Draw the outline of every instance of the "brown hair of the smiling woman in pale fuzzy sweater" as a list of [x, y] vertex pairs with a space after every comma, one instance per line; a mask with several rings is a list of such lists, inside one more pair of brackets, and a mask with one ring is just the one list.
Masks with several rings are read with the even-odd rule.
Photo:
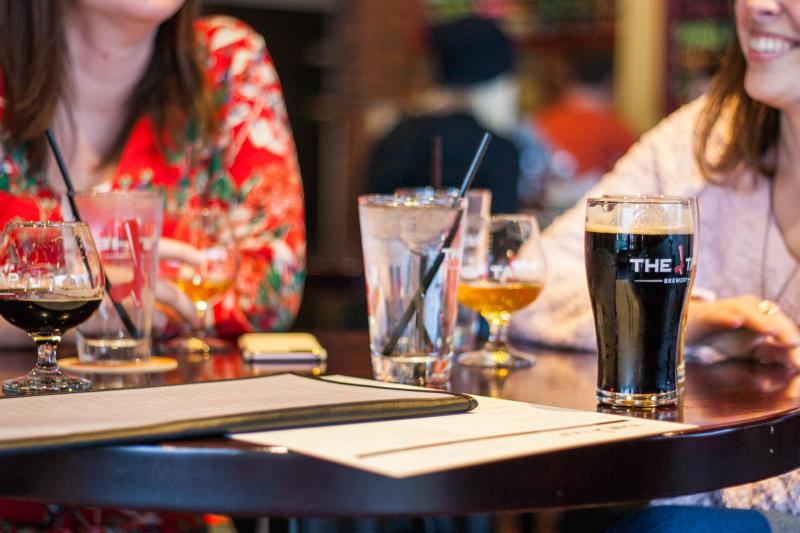
[[[780, 112], [747, 94], [746, 69], [739, 39], [734, 35], [709, 89], [695, 137], [695, 158], [710, 181], [725, 181], [722, 176], [742, 165], [770, 178], [775, 175], [774, 158], [768, 156], [778, 140]], [[712, 160], [709, 146], [715, 129], [726, 122], [726, 144]]]

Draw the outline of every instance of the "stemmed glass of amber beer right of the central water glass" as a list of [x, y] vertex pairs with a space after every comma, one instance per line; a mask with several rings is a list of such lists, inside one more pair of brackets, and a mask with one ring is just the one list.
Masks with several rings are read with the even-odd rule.
[[506, 344], [511, 313], [532, 303], [544, 287], [546, 266], [539, 225], [532, 215], [494, 215], [489, 222], [488, 265], [464, 272], [458, 301], [489, 322], [483, 349], [461, 354], [466, 366], [521, 368], [535, 358]]

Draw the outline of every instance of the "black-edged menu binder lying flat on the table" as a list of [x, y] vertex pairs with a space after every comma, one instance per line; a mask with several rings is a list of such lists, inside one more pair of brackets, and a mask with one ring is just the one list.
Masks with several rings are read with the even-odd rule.
[[0, 400], [0, 453], [466, 412], [447, 391], [278, 374]]

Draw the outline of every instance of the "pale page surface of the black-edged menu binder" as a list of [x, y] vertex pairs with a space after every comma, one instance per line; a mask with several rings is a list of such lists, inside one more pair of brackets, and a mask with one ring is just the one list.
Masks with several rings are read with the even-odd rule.
[[[282, 374], [167, 387], [3, 398], [0, 444], [292, 407], [419, 396], [415, 391], [347, 387]], [[431, 395], [428, 392], [424, 397]]]

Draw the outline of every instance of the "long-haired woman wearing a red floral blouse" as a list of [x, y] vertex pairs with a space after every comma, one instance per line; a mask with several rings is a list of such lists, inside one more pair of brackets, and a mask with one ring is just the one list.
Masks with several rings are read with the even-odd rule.
[[[160, 189], [168, 208], [227, 207], [242, 261], [216, 327], [285, 329], [300, 303], [305, 229], [280, 83], [259, 35], [198, 18], [198, 4], [0, 0], [0, 226], [62, 216], [52, 128], [76, 190]], [[174, 286], [160, 282], [157, 298], [194, 319]], [[12, 328], [2, 330], [9, 344]]]

